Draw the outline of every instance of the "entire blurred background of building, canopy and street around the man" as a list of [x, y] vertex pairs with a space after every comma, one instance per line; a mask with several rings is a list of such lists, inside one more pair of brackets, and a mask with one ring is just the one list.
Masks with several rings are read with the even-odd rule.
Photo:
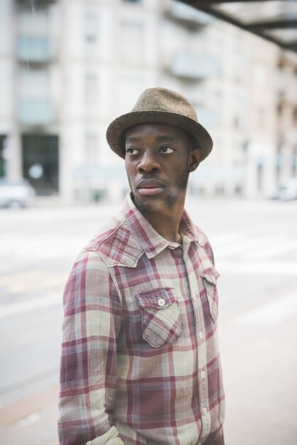
[[221, 273], [226, 445], [297, 444], [293, 0], [0, 0], [1, 443], [58, 443], [63, 286], [128, 190], [107, 126], [153, 86], [214, 141], [187, 207]]

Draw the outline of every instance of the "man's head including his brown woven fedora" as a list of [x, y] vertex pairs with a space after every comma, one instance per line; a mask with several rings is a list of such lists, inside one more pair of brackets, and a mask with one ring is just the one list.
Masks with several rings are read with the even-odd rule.
[[109, 125], [107, 141], [125, 159], [132, 197], [145, 215], [183, 208], [189, 173], [212, 149], [190, 102], [165, 88], [144, 91]]

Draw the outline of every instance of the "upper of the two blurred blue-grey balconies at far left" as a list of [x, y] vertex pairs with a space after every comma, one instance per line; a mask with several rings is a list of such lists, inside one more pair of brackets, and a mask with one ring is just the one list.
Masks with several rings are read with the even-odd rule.
[[47, 36], [20, 36], [18, 60], [31, 63], [48, 63], [53, 60], [53, 48]]

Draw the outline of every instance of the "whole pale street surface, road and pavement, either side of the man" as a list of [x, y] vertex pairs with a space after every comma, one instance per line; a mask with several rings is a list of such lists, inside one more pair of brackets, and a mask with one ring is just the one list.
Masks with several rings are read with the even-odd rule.
[[[55, 445], [63, 286], [120, 208], [0, 210], [0, 443]], [[226, 445], [297, 444], [297, 203], [189, 197], [220, 272]]]

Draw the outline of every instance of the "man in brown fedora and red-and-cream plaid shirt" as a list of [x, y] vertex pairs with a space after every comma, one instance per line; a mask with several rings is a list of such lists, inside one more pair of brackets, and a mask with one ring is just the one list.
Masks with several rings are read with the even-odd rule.
[[224, 444], [218, 273], [184, 210], [212, 139], [182, 95], [150, 88], [107, 129], [131, 194], [65, 287], [60, 444]]

